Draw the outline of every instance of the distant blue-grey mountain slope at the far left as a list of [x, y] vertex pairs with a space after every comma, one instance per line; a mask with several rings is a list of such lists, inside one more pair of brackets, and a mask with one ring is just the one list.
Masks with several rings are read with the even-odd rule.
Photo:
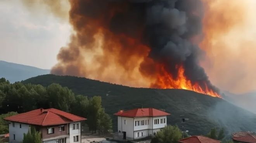
[[49, 73], [50, 70], [48, 69], [0, 61], [0, 78], [4, 77], [12, 83]]

